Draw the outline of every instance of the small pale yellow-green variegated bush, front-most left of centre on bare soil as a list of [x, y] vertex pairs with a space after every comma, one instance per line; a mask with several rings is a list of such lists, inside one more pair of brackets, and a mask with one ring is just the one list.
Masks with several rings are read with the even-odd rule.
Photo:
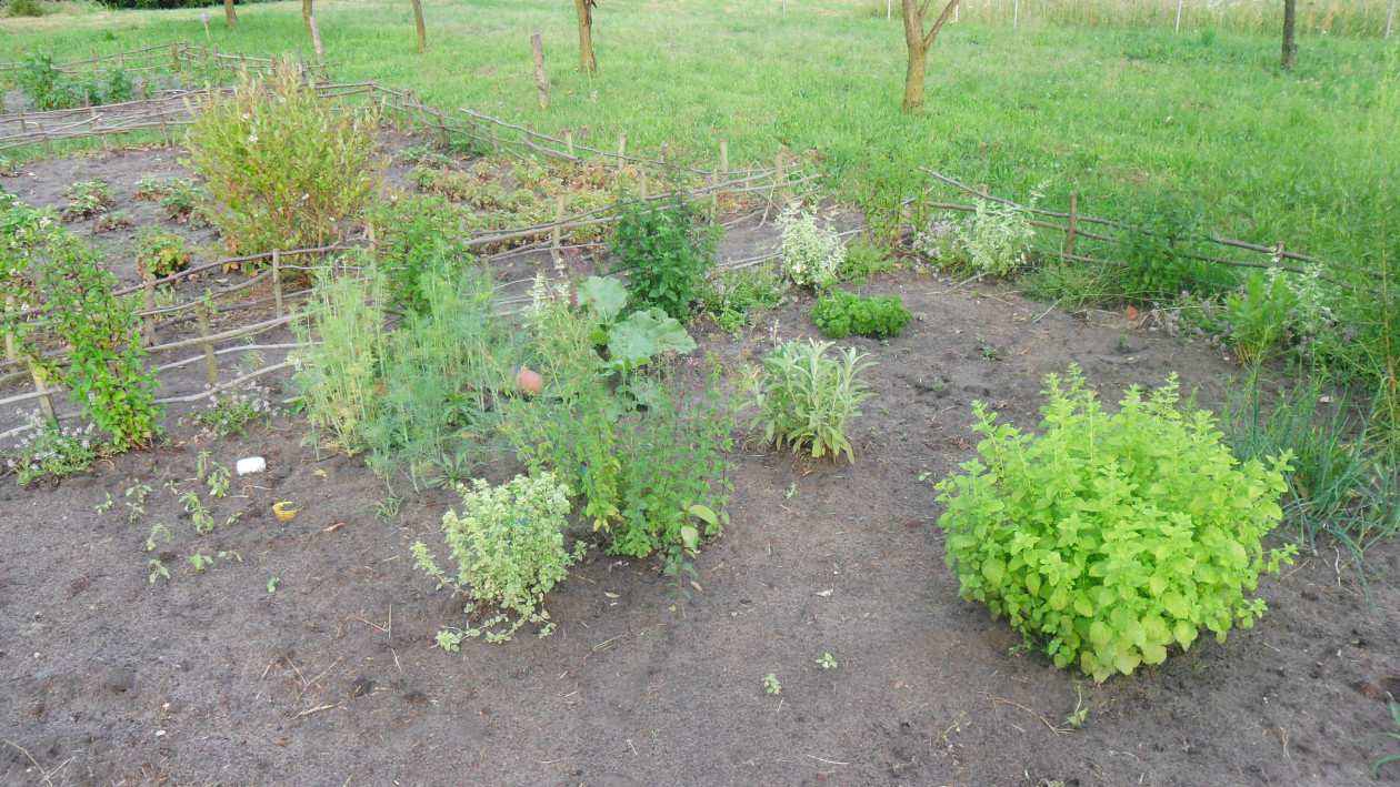
[[[473, 601], [468, 612], [491, 608], [494, 615], [466, 632], [487, 642], [507, 642], [526, 623], [540, 623], [549, 636], [554, 623], [545, 609], [545, 595], [568, 577], [568, 568], [582, 558], [582, 541], [564, 549], [564, 514], [573, 507], [568, 486], [550, 474], [524, 477], [500, 486], [477, 478], [462, 488], [462, 513], [442, 516], [442, 533], [456, 576], [440, 569], [428, 548], [413, 544], [417, 566], [465, 593]], [[511, 621], [514, 616], [514, 622]]]

